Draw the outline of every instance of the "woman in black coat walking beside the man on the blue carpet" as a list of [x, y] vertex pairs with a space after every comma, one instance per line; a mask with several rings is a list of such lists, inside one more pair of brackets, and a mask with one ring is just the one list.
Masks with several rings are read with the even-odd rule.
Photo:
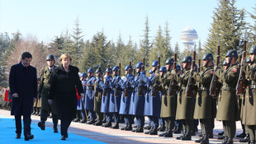
[[81, 97], [84, 96], [78, 76], [79, 69], [70, 65], [71, 60], [68, 53], [62, 54], [59, 58], [62, 65], [55, 68], [50, 81], [49, 103], [55, 100], [57, 104], [61, 140], [68, 138], [68, 128], [76, 114], [78, 101], [76, 88]]

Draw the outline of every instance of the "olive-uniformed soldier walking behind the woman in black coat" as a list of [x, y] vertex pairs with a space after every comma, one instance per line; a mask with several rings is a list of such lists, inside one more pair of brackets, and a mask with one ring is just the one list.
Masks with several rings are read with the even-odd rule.
[[41, 95], [41, 114], [38, 127], [40, 127], [41, 130], [45, 130], [45, 121], [47, 120], [48, 114], [51, 111], [52, 120], [54, 123], [54, 132], [58, 132], [58, 115], [55, 100], [53, 100], [52, 105], [49, 105], [48, 103], [48, 96], [50, 92], [50, 77], [54, 68], [56, 67], [54, 55], [50, 54], [46, 57], [46, 65], [47, 66], [43, 68], [40, 73], [39, 94]]

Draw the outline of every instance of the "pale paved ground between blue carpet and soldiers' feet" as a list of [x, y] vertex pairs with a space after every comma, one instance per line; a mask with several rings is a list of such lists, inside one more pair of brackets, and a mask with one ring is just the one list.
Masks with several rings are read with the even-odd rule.
[[[13, 118], [13, 116], [10, 115], [10, 111], [0, 109], [0, 114], [7, 117], [7, 118]], [[40, 120], [39, 116], [31, 116], [32, 123], [38, 123]], [[147, 123], [147, 121], [146, 121]], [[120, 124], [120, 127], [124, 126], [124, 123]], [[13, 126], [14, 127], [14, 126]], [[52, 128], [51, 118], [48, 118], [46, 127]], [[58, 126], [59, 127], [59, 126]], [[242, 132], [241, 125], [239, 122], [236, 123], [237, 131], [236, 133], [239, 134]], [[198, 126], [199, 132], [200, 132], [200, 126]], [[217, 133], [222, 131], [222, 124], [218, 121], [216, 121], [216, 128], [214, 129], [214, 138], [210, 139], [211, 143], [221, 143], [221, 140], [217, 140]], [[33, 133], [33, 129], [31, 131]], [[88, 137], [92, 140], [96, 140], [99, 142], [105, 142], [105, 143], [195, 143], [194, 141], [197, 140], [199, 137], [197, 132], [197, 136], [192, 137], [192, 141], [178, 141], [175, 139], [175, 137], [180, 136], [181, 134], [174, 134], [171, 138], [165, 138], [165, 137], [158, 137], [158, 136], [151, 136], [146, 135], [144, 133], [135, 133], [135, 132], [127, 132], [127, 131], [121, 131], [118, 129], [111, 129], [111, 128], [102, 128], [100, 126], [93, 126], [88, 125], [84, 123], [71, 123], [69, 127], [69, 132], [82, 136], [82, 137]], [[160, 133], [160, 132], [159, 132]], [[15, 137], [15, 132], [13, 132], [13, 137]], [[35, 139], [38, 137], [35, 133]], [[59, 134], [60, 138], [60, 134]], [[69, 138], [69, 141], [72, 141]], [[235, 143], [239, 143], [239, 139], [234, 139]], [[32, 142], [32, 141], [31, 141]], [[59, 142], [61, 142], [59, 140]], [[1, 142], [0, 142], [1, 143]]]

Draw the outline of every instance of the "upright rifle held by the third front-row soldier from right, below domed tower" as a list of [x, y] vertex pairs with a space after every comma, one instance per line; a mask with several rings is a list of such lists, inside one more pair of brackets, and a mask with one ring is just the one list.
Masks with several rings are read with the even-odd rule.
[[192, 68], [191, 68], [191, 71], [190, 71], [190, 76], [189, 76], [188, 81], [187, 81], [186, 96], [188, 98], [191, 98], [191, 96], [192, 96], [192, 85], [194, 83], [194, 79], [192, 78], [192, 76], [193, 76], [193, 71], [192, 70], [195, 69], [195, 64], [196, 64], [196, 44], [194, 46]]

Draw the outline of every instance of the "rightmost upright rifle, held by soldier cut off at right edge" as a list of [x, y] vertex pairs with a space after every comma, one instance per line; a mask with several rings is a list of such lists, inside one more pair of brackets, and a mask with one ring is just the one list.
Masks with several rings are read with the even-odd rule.
[[[243, 60], [241, 60], [239, 67], [242, 66], [242, 63], [243, 63], [243, 61], [245, 61], [245, 58], [246, 58], [246, 37], [247, 37], [247, 33], [245, 31], [245, 33], [244, 33], [244, 51], [243, 51], [244, 54], [242, 55]], [[245, 79], [245, 73], [243, 72], [242, 68], [240, 68], [239, 80], [236, 85], [236, 95], [244, 95], [244, 88], [245, 88], [244, 79]]]

